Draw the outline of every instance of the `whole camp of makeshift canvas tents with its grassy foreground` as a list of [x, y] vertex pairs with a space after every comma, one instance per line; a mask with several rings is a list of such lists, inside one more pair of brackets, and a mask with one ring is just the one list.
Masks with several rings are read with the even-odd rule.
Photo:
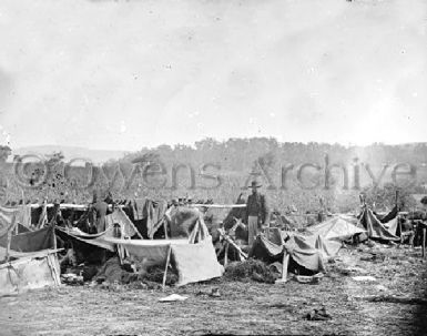
[[[91, 204], [0, 208], [0, 295], [11, 308], [2, 318], [27, 323], [27, 309], [57, 312], [21, 330], [73, 335], [166, 335], [171, 314], [180, 316], [176, 334], [368, 335], [389, 315], [410, 333], [424, 327], [408, 318], [427, 305], [426, 230], [397, 207], [379, 214], [362, 202], [303, 227], [276, 212], [253, 246], [238, 201], [138, 198], [109, 207], [96, 233]], [[212, 213], [222, 220], [213, 223]]]

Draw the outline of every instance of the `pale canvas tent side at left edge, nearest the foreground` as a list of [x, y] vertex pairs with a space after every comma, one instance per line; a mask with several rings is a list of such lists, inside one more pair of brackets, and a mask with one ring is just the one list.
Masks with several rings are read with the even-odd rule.
[[39, 253], [0, 265], [0, 296], [60, 284], [60, 266], [54, 253]]

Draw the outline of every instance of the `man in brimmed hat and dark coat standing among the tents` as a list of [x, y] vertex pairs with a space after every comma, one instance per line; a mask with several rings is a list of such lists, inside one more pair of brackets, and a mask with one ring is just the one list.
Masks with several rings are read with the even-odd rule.
[[252, 194], [246, 201], [246, 223], [248, 230], [248, 244], [252, 247], [255, 237], [261, 232], [262, 225], [267, 225], [270, 221], [270, 211], [265, 196], [258, 193], [261, 184], [252, 181], [250, 189]]

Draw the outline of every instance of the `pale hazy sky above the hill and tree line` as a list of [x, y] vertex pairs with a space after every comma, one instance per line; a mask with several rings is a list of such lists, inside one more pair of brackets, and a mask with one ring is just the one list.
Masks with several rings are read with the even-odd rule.
[[426, 31], [425, 0], [1, 0], [0, 141], [427, 141]]

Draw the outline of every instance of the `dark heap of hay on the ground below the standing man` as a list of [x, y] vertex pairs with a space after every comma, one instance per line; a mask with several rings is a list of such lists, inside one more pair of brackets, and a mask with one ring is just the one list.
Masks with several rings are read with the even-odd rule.
[[[272, 267], [273, 268], [273, 267]], [[274, 284], [279, 274], [271, 269], [265, 263], [257, 259], [234, 262], [225, 268], [224, 277], [230, 281], [256, 281], [258, 283]]]

